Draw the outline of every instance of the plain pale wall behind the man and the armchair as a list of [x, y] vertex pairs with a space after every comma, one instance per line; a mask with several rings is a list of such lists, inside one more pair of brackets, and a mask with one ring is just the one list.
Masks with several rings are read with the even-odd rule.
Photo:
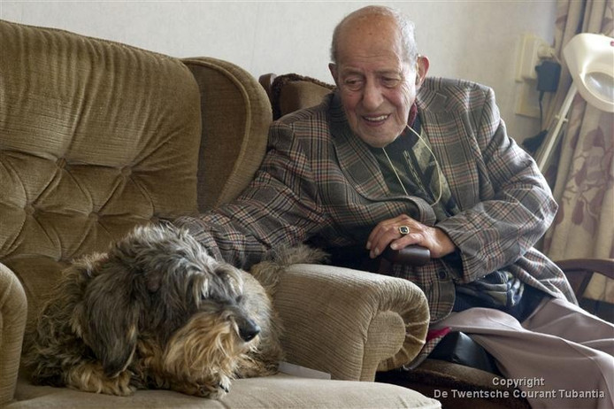
[[[174, 57], [211, 56], [262, 73], [302, 73], [332, 81], [327, 70], [334, 25], [365, 2], [3, 1], [0, 19], [58, 27], [126, 42]], [[417, 27], [429, 74], [479, 81], [495, 89], [517, 141], [539, 120], [515, 114], [514, 81], [523, 33], [552, 42], [555, 0], [382, 2]], [[0, 44], [1, 45], [1, 44]]]

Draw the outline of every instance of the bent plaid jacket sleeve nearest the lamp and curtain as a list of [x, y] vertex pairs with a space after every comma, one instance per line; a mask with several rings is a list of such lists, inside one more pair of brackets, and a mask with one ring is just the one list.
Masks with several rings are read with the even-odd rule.
[[533, 158], [506, 133], [492, 89], [485, 89], [477, 146], [480, 201], [441, 221], [463, 264], [460, 282], [472, 282], [521, 258], [546, 232], [556, 202]]

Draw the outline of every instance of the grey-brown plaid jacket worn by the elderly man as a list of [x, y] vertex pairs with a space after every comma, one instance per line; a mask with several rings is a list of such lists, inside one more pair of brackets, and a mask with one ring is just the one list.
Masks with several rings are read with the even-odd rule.
[[[452, 309], [455, 283], [495, 270], [555, 297], [575, 298], [564, 274], [533, 249], [556, 213], [533, 159], [506, 134], [492, 89], [430, 78], [418, 91], [418, 114], [460, 212], [437, 224], [462, 263], [393, 266], [416, 282], [431, 319]], [[433, 226], [419, 197], [390, 192], [368, 146], [349, 129], [339, 98], [272, 124], [269, 150], [255, 180], [232, 204], [178, 224], [214, 257], [248, 268], [272, 248], [317, 238], [329, 247], [361, 245], [381, 220], [401, 213]], [[462, 266], [461, 266], [462, 265]]]

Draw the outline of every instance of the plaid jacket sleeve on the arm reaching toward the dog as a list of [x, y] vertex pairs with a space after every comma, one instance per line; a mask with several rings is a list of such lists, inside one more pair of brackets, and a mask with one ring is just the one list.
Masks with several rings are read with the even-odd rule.
[[240, 197], [174, 223], [188, 228], [212, 257], [249, 268], [272, 247], [302, 243], [325, 225], [318, 202], [309, 161], [293, 129], [275, 123], [263, 164]]

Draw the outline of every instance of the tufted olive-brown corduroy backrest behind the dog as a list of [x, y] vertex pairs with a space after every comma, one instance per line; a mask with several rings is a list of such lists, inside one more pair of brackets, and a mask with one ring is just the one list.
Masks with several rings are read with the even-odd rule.
[[196, 81], [179, 60], [0, 21], [0, 261], [31, 317], [69, 259], [196, 211]]

